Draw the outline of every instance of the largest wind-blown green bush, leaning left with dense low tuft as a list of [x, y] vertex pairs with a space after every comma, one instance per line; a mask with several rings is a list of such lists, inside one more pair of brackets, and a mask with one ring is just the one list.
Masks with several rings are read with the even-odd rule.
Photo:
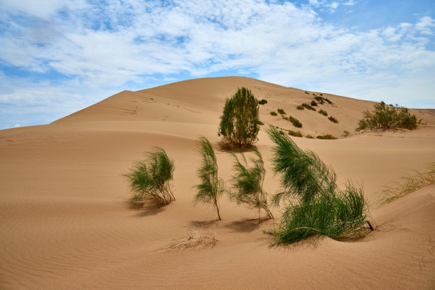
[[272, 163], [282, 188], [272, 200], [286, 204], [280, 224], [267, 232], [275, 237], [272, 246], [314, 235], [340, 239], [362, 230], [366, 219], [363, 190], [351, 183], [345, 190], [338, 189], [333, 168], [316, 154], [300, 149], [274, 127], [267, 133], [276, 144]]

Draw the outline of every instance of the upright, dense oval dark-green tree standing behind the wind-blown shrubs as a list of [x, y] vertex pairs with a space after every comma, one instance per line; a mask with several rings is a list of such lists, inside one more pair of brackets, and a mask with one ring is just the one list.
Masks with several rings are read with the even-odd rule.
[[227, 98], [220, 117], [219, 136], [230, 146], [244, 148], [254, 144], [259, 131], [259, 106], [245, 87]]

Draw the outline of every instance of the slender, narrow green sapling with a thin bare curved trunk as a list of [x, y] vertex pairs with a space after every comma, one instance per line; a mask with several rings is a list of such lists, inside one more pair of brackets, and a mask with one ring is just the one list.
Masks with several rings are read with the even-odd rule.
[[195, 186], [198, 189], [194, 197], [196, 203], [212, 203], [218, 213], [218, 220], [220, 220], [218, 198], [224, 191], [224, 183], [222, 178], [218, 177], [218, 163], [216, 161], [215, 151], [207, 138], [200, 136], [199, 153], [203, 160], [200, 168], [198, 169], [198, 176], [200, 184]]

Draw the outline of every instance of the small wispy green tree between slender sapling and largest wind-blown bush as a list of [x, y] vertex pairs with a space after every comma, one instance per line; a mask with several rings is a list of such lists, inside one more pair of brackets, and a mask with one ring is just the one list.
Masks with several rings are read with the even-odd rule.
[[232, 176], [232, 187], [230, 191], [230, 200], [234, 200], [237, 204], [245, 203], [249, 208], [257, 208], [258, 223], [261, 222], [261, 210], [264, 210], [269, 218], [274, 218], [267, 206], [267, 193], [263, 190], [264, 162], [262, 154], [254, 149], [257, 158], [250, 159], [252, 167], [247, 165], [245, 154], [241, 153], [241, 160], [231, 153], [234, 158], [233, 168], [235, 175]]

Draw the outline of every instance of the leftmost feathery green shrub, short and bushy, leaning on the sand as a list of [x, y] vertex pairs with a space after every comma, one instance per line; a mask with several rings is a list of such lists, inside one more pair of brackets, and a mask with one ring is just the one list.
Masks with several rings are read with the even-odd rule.
[[169, 204], [176, 200], [171, 192], [169, 182], [173, 179], [174, 165], [166, 151], [154, 147], [145, 153], [146, 159], [136, 161], [129, 173], [123, 174], [129, 181], [133, 196], [130, 201], [134, 205], [143, 205], [145, 201]]

